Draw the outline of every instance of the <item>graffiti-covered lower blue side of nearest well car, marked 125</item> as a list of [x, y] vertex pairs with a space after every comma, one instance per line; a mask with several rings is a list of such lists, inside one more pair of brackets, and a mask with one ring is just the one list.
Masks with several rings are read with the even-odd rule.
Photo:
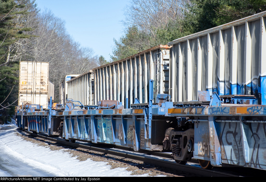
[[[194, 158], [211, 161], [218, 152], [221, 163], [266, 169], [266, 123], [216, 122], [215, 127], [220, 128], [219, 143], [213, 144], [215, 129], [210, 121], [209, 126], [208, 122], [195, 125]], [[215, 162], [212, 165], [219, 166]]]

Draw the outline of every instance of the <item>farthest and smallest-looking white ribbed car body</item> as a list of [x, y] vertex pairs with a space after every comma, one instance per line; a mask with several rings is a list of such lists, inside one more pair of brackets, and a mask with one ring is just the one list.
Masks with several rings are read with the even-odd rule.
[[[83, 105], [93, 105], [94, 77], [93, 71], [81, 74], [70, 81], [67, 81], [67, 95], [69, 99], [80, 101]], [[74, 103], [78, 104], [79, 103]], [[97, 103], [96, 103], [97, 104]]]

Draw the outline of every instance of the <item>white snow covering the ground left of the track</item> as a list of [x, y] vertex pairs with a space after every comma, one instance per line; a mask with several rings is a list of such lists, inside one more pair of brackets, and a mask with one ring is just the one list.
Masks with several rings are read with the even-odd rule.
[[[52, 151], [43, 146], [36, 146], [22, 140], [16, 133], [16, 127], [0, 130], [0, 176], [132, 176], [126, 168], [110, 169], [110, 165], [106, 165], [107, 162], [95, 162], [91, 159], [79, 161], [63, 149]], [[2, 165], [4, 162], [7, 163], [5, 166]], [[32, 172], [28, 169], [27, 173], [20, 172], [26, 167], [32, 168]]]

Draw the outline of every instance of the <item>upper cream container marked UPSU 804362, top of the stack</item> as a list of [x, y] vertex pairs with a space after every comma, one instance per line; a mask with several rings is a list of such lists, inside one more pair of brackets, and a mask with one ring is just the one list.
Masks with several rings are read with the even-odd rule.
[[19, 93], [48, 94], [49, 63], [20, 61]]

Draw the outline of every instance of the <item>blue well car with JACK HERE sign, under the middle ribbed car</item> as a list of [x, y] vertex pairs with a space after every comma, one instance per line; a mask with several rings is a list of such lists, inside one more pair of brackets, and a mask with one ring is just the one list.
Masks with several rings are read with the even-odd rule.
[[[149, 90], [153, 90], [153, 81], [149, 82]], [[71, 141], [121, 145], [135, 151], [163, 150], [165, 130], [176, 125], [176, 118], [164, 116], [164, 102], [169, 100], [169, 95], [157, 96], [153, 103], [153, 92], [149, 92], [149, 103], [139, 103], [136, 99], [130, 109], [124, 109], [117, 101], [107, 105], [106, 100], [96, 109], [73, 109], [70, 101], [63, 112], [63, 137]]]

